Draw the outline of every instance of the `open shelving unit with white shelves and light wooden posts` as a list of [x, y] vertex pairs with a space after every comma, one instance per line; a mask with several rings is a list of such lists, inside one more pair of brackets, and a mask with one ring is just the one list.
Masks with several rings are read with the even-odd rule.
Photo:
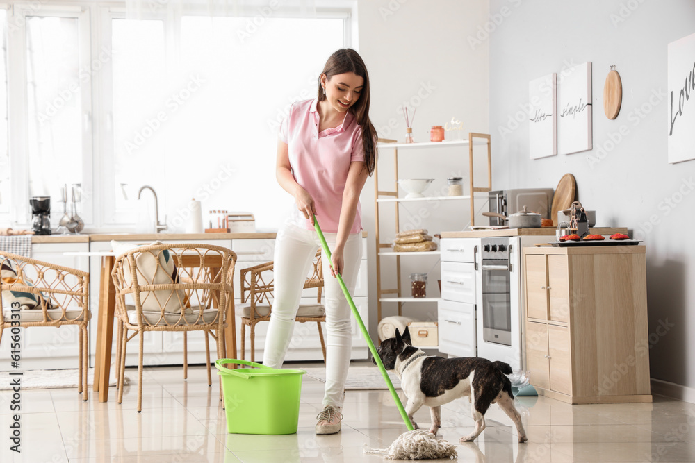
[[[476, 141], [477, 140], [477, 141]], [[483, 146], [486, 146], [487, 148], [487, 185], [485, 187], [476, 187], [473, 182], [473, 145], [474, 144], [480, 144]], [[428, 156], [436, 155], [437, 152], [442, 152], [440, 151], [441, 148], [443, 147], [455, 147], [455, 148], [462, 148], [464, 150], [464, 155], [461, 156], [462, 160], [462, 169], [467, 170], [469, 175], [469, 185], [468, 185], [468, 194], [466, 195], [461, 195], [461, 196], [430, 196], [430, 197], [420, 197], [420, 198], [407, 198], [407, 197], [399, 197], [398, 194], [398, 164], [400, 162], [400, 156], [402, 156], [402, 153], [407, 153], [407, 152], [416, 152], [416, 153], [421, 153], [425, 154]], [[397, 235], [400, 232], [400, 220], [399, 220], [399, 206], [400, 205], [407, 205], [407, 203], [415, 203], [423, 206], [427, 205], [432, 205], [432, 203], [436, 201], [468, 201], [469, 202], [469, 210], [468, 210], [468, 217], [470, 218], [470, 224], [474, 225], [475, 224], [475, 199], [487, 199], [487, 194], [486, 192], [489, 192], [491, 190], [491, 140], [490, 140], [490, 135], [487, 134], [482, 134], [482, 133], [468, 133], [468, 140], [459, 140], [459, 141], [454, 141], [454, 142], [425, 142], [425, 143], [396, 143], [395, 140], [379, 140], [379, 143], [377, 144], [377, 148], [379, 149], [379, 157], [378, 159], [381, 159], [383, 157], [384, 151], [393, 149], [393, 190], [381, 190], [379, 189], [379, 163], [377, 162], [377, 165], [375, 166], [374, 169], [374, 190], [375, 190], [375, 224], [376, 224], [376, 233], [375, 233], [375, 239], [376, 239], [376, 249], [377, 249], [377, 278], [376, 278], [376, 283], [377, 283], [377, 323], [382, 320], [382, 315], [383, 315], [383, 308], [384, 308], [384, 303], [395, 303], [397, 304], [397, 312], [393, 314], [398, 314], [402, 315], [402, 308], [404, 303], [434, 303], [438, 302], [439, 298], [432, 298], [432, 297], [425, 297], [425, 298], [414, 298], [411, 296], [411, 292], [409, 291], [409, 285], [404, 289], [402, 287], [401, 283], [401, 267], [400, 267], [400, 259], [401, 258], [407, 258], [407, 259], [422, 259], [422, 258], [427, 258], [427, 256], [433, 256], [433, 257], [439, 257], [441, 255], [441, 259], [444, 260], [445, 258], [450, 258], [452, 255], [444, 255], [445, 251], [442, 251], [441, 249], [438, 251], [427, 251], [427, 252], [393, 252], [391, 251], [391, 242], [382, 242], [382, 239], [384, 239], [384, 231], [388, 230], [388, 236], [389, 239], [395, 238], [395, 235]], [[468, 155], [466, 156], [465, 151], [468, 151]], [[400, 156], [399, 156], [400, 154]], [[476, 193], [484, 193], [484, 195], [476, 195]], [[395, 207], [395, 221], [391, 220], [389, 217], [389, 227], [386, 230], [383, 230], [380, 228], [379, 225], [379, 214], [380, 214], [380, 208], [382, 208], [384, 205], [387, 205], [388, 203], [392, 203]], [[465, 204], [465, 203], [464, 203]], [[383, 214], [383, 212], [382, 212]], [[465, 217], [465, 216], [464, 216]], [[466, 223], [465, 223], [465, 218], [464, 222], [461, 223], [461, 228], [463, 228]], [[427, 228], [425, 224], [423, 224], [423, 228]], [[459, 253], [460, 251], [455, 251], [452, 249], [450, 251], [451, 253]], [[472, 252], [472, 250], [471, 250]], [[464, 256], [461, 255], [459, 258], [470, 258], [470, 256]], [[459, 260], [452, 260], [452, 262], [461, 262]], [[430, 267], [432, 264], [425, 264], [427, 267]], [[458, 277], [464, 277], [466, 273], [470, 275], [470, 271], [468, 269], [470, 266], [465, 266], [465, 265], [452, 265], [449, 267], [450, 271], [450, 276], [456, 276]], [[389, 275], [389, 276], [395, 276], [395, 287], [391, 288], [384, 288], [382, 287], [382, 273], [384, 273], [384, 276]], [[455, 294], [455, 293], [461, 293], [461, 297], [466, 298], [462, 293], [464, 290], [462, 289], [464, 283], [469, 283], [469, 282], [464, 282], [463, 280], [456, 280], [455, 278], [451, 278], [450, 281], [454, 282], [456, 281], [457, 283], [445, 283], [445, 278], [442, 276], [441, 278], [442, 281], [442, 287], [441, 290], [442, 292], [445, 291], [445, 288], [447, 291], [450, 291], [450, 295]], [[459, 287], [457, 287], [459, 285]], [[470, 296], [471, 294], [468, 293], [468, 298], [466, 301], [463, 301], [461, 298], [454, 299], [454, 301], [461, 301], [461, 302], [467, 302], [467, 303], [473, 303], [475, 304], [475, 301], [472, 301]], [[391, 306], [393, 307], [393, 306]], [[390, 311], [389, 311], [390, 312]], [[441, 336], [440, 336], [441, 337]]]

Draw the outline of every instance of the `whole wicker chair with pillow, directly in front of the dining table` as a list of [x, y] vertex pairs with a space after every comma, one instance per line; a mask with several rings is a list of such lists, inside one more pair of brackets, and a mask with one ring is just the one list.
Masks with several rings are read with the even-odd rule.
[[183, 332], [184, 337], [190, 331], [203, 331], [208, 385], [212, 385], [208, 335], [217, 343], [218, 358], [223, 358], [227, 326], [224, 316], [234, 308], [235, 264], [236, 253], [211, 244], [140, 246], [116, 258], [111, 276], [120, 331], [118, 403], [123, 401], [126, 346], [139, 334], [138, 412], [142, 411], [143, 342], [147, 331]]

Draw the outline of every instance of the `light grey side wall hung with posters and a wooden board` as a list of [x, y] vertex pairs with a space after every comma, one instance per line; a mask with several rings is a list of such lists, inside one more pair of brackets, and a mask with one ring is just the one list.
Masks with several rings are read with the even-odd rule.
[[[489, 38], [493, 186], [555, 187], [571, 172], [598, 225], [627, 226], [644, 239], [651, 376], [695, 387], [695, 248], [686, 239], [695, 193], [682, 186], [692, 184], [695, 161], [667, 162], [666, 96], [667, 44], [695, 32], [695, 1], [490, 2], [491, 15], [502, 8], [509, 14]], [[528, 82], [585, 61], [594, 69], [594, 149], [529, 160], [528, 117], [522, 113], [514, 128]], [[610, 65], [623, 83], [612, 121], [603, 113]], [[671, 198], [675, 208], [666, 203]], [[651, 218], [657, 225], [645, 225]]]

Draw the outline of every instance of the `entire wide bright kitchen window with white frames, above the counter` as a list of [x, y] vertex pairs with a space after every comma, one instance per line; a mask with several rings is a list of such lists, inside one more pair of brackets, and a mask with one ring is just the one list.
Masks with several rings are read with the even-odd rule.
[[77, 185], [86, 230], [130, 225], [152, 205], [137, 200], [150, 185], [172, 231], [185, 228], [193, 197], [279, 226], [277, 128], [349, 45], [349, 2], [338, 3], [262, 20], [252, 2], [224, 11], [234, 17], [193, 2], [139, 19], [118, 0], [0, 9], [0, 222], [27, 226], [29, 197], [48, 195], [55, 227], [63, 185], [68, 203]]

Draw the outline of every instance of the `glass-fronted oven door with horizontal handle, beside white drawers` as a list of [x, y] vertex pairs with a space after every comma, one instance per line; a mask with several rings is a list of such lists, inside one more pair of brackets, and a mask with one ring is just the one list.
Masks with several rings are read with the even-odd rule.
[[482, 261], [483, 340], [512, 346], [512, 301], [509, 262]]

